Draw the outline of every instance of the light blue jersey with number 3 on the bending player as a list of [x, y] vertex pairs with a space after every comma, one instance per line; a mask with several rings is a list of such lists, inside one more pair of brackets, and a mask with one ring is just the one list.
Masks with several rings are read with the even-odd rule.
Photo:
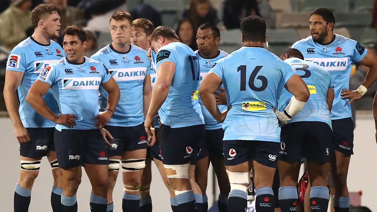
[[[299, 58], [289, 58], [284, 61], [291, 65], [293, 70], [301, 76], [310, 92], [310, 97], [305, 106], [288, 124], [296, 121], [321, 121], [332, 127], [330, 111], [326, 101], [327, 90], [329, 88], [334, 89], [329, 72], [315, 63]], [[278, 101], [280, 112], [284, 111], [292, 96], [287, 89], [283, 89]]]

